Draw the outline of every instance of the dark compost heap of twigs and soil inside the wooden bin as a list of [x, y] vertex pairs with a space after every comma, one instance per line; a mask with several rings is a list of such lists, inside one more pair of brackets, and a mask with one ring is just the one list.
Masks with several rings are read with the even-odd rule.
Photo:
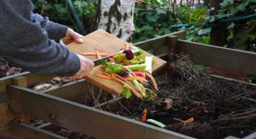
[[[256, 87], [212, 77], [188, 55], [175, 56], [178, 60], [167, 68], [169, 74], [156, 78], [160, 89], [153, 100], [123, 98], [98, 109], [137, 121], [146, 109], [146, 119], [194, 138], [242, 138], [256, 131]], [[189, 118], [194, 121], [185, 122]]]

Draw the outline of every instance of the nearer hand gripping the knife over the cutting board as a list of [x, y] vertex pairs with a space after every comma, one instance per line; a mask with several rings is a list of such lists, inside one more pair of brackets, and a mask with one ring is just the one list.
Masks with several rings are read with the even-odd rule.
[[80, 64], [81, 64], [81, 67], [80, 67], [79, 71], [76, 72], [75, 75], [70, 76], [70, 77], [66, 77], [66, 78], [68, 78], [68, 79], [80, 79], [80, 78], [84, 78], [85, 76], [90, 75], [90, 71], [94, 67], [94, 63], [90, 59], [85, 58], [82, 55], [78, 55], [78, 58], [80, 59]]

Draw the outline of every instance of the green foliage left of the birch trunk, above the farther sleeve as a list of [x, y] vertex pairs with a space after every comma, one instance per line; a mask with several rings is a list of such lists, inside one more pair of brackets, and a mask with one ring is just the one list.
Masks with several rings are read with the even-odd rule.
[[[98, 0], [73, 0], [73, 6], [84, 25], [84, 29], [90, 32], [96, 16], [96, 4]], [[48, 16], [50, 20], [65, 24], [80, 32], [75, 24], [73, 16], [67, 7], [67, 0], [33, 0], [34, 13]]]

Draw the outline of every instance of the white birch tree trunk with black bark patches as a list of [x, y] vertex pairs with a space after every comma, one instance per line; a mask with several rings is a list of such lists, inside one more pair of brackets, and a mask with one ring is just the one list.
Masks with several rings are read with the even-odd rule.
[[133, 0], [102, 0], [98, 29], [106, 30], [124, 41], [131, 41], [135, 31], [134, 7]]

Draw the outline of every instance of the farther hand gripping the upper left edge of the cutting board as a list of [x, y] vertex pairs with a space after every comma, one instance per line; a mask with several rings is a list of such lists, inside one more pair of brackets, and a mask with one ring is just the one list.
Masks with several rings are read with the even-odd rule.
[[83, 39], [81, 39], [83, 37], [83, 35], [76, 33], [74, 30], [68, 28], [67, 29], [67, 33], [65, 35], [65, 37], [63, 38], [63, 42], [64, 44], [70, 44], [73, 41], [78, 42], [78, 43], [83, 43]]

